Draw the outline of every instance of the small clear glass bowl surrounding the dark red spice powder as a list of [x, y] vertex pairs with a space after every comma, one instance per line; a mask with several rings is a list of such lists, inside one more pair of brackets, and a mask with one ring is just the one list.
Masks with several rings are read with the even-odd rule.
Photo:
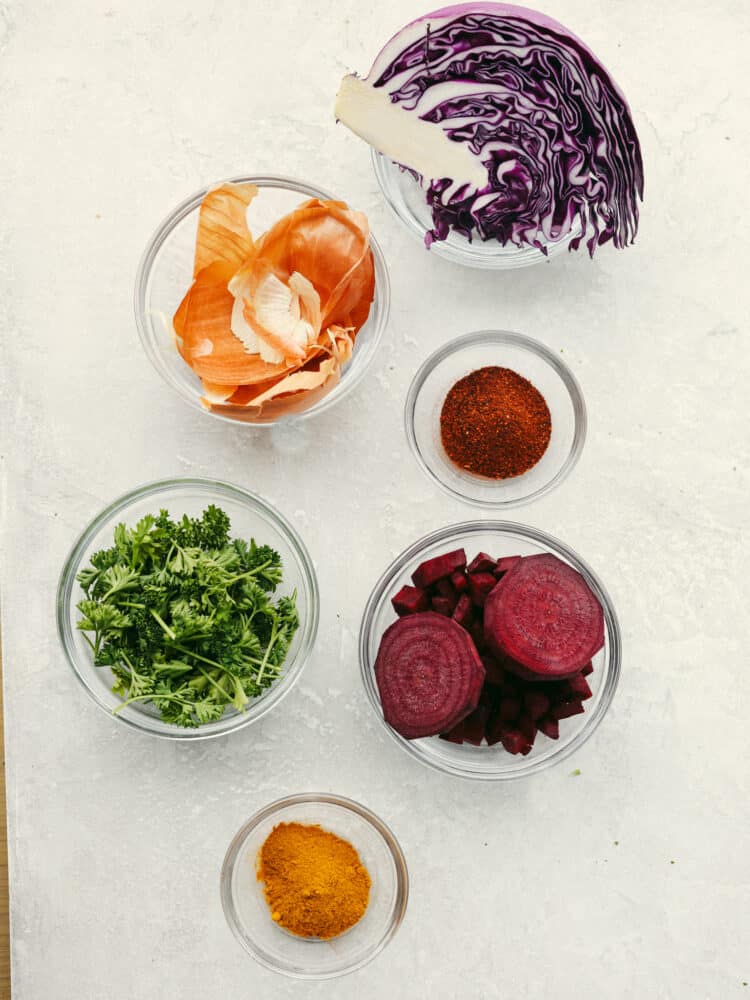
[[[552, 436], [535, 466], [512, 479], [488, 479], [455, 465], [440, 437], [440, 411], [451, 387], [487, 365], [510, 368], [544, 396]], [[578, 461], [586, 439], [586, 405], [573, 373], [530, 337], [479, 330], [450, 341], [424, 362], [409, 387], [404, 408], [406, 436], [421, 468], [442, 489], [477, 507], [509, 508], [549, 493]]]

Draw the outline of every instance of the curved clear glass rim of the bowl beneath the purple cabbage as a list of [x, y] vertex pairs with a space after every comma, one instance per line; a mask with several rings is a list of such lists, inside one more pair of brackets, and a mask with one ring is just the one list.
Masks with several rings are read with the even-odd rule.
[[[375, 178], [388, 208], [407, 232], [421, 244], [422, 249], [427, 249], [424, 243], [424, 226], [411, 213], [407, 213], [402, 209], [402, 206], [394, 199], [390, 190], [391, 171], [392, 169], [400, 170], [400, 167], [389, 157], [379, 153], [374, 147], [370, 150], [370, 158]], [[568, 244], [575, 235], [576, 232], [571, 231], [566, 237], [549, 243], [546, 255], [536, 247], [513, 246], [511, 249], [503, 247], [500, 243], [496, 243], [497, 254], [494, 256], [491, 253], [477, 253], [477, 246], [488, 245], [488, 243], [483, 243], [481, 240], [477, 240], [475, 243], [470, 243], [466, 240], [465, 246], [456, 246], [453, 243], [447, 243], [445, 240], [436, 240], [430, 246], [429, 253], [434, 253], [436, 256], [442, 257], [443, 260], [449, 260], [451, 263], [460, 264], [463, 267], [473, 267], [484, 271], [513, 271], [521, 267], [533, 267], [536, 264], [544, 264], [554, 257], [559, 256], [563, 251], [568, 249]], [[516, 252], [514, 253], [513, 251]]]

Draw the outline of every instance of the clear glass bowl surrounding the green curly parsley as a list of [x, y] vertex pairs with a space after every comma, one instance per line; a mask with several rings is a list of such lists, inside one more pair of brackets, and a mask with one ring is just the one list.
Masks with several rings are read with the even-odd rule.
[[298, 680], [315, 642], [318, 630], [319, 596], [315, 570], [307, 549], [294, 528], [261, 497], [229, 483], [210, 479], [169, 479], [139, 486], [101, 512], [86, 528], [65, 561], [57, 588], [57, 629], [63, 650], [84, 689], [110, 716], [123, 699], [112, 692], [113, 675], [108, 667], [95, 667], [91, 650], [76, 628], [80, 615], [76, 604], [85, 595], [76, 576], [98, 549], [112, 545], [115, 526], [124, 521], [135, 524], [145, 514], [166, 508], [172, 517], [200, 514], [208, 504], [216, 504], [229, 515], [233, 537], [271, 545], [281, 555], [284, 578], [278, 595], [297, 591], [300, 625], [292, 640], [279, 679], [244, 712], [227, 708], [215, 722], [197, 729], [185, 729], [163, 722], [150, 705], [136, 703], [118, 712], [115, 719], [173, 740], [205, 740], [242, 729], [262, 718], [288, 694]]

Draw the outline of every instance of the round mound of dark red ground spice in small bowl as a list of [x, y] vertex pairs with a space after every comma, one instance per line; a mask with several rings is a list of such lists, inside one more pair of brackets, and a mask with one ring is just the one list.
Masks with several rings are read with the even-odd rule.
[[510, 368], [478, 368], [449, 390], [440, 436], [452, 462], [490, 479], [521, 476], [547, 450], [549, 407], [539, 390]]

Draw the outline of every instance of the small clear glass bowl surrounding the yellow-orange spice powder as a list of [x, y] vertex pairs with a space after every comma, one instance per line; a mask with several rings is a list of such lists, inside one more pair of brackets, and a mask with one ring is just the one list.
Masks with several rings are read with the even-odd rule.
[[[271, 919], [256, 868], [263, 842], [279, 823], [314, 823], [343, 837], [369, 871], [369, 905], [339, 937], [297, 937]], [[332, 979], [362, 968], [396, 933], [408, 896], [409, 875], [396, 838], [369, 809], [339, 795], [310, 793], [272, 802], [236, 834], [221, 870], [221, 902], [237, 940], [267, 969], [296, 979]]]

